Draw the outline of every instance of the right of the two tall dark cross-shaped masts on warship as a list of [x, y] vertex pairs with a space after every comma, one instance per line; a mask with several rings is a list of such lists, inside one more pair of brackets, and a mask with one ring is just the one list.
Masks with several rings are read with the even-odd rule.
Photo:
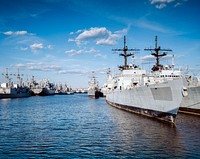
[[[160, 64], [159, 60], [161, 57], [166, 56], [167, 53], [163, 51], [172, 51], [171, 49], [161, 49], [161, 47], [158, 47], [158, 37], [155, 37], [155, 48], [154, 49], [144, 49], [145, 51], [153, 51], [151, 55], [153, 55], [156, 58], [156, 64], [153, 66], [152, 71], [158, 71], [163, 68], [163, 66]], [[159, 51], [162, 51], [162, 53], [159, 53]]]

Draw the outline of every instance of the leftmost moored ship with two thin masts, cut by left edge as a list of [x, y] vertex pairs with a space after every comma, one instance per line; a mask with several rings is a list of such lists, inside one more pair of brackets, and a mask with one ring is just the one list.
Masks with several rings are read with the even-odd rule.
[[2, 98], [22, 98], [22, 97], [30, 97], [31, 91], [28, 87], [24, 86], [22, 83], [22, 79], [19, 74], [17, 76], [17, 84], [13, 84], [11, 79], [9, 78], [8, 69], [6, 69], [6, 73], [3, 74], [5, 77], [5, 83], [1, 83], [0, 85], [0, 99]]

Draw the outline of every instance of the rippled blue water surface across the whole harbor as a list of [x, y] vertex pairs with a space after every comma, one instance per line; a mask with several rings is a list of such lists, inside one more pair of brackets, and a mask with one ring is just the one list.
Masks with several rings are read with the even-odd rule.
[[3, 99], [0, 158], [200, 158], [200, 117], [172, 127], [86, 94]]

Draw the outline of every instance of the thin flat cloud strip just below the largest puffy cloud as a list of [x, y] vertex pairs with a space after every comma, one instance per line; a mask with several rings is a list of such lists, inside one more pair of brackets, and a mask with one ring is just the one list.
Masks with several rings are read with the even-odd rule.
[[74, 55], [79, 55], [79, 54], [97, 54], [99, 53], [98, 50], [95, 49], [89, 49], [89, 50], [85, 50], [85, 49], [81, 49], [81, 50], [75, 50], [75, 49], [71, 49], [71, 50], [67, 50], [65, 51], [66, 54], [69, 54], [70, 56], [74, 56]]

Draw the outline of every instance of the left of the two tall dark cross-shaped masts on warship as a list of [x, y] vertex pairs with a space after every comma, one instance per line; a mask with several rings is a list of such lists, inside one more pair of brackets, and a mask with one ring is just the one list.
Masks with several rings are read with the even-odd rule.
[[121, 53], [119, 55], [124, 57], [124, 66], [120, 66], [119, 68], [121, 68], [122, 70], [126, 70], [126, 69], [128, 69], [127, 57], [133, 55], [133, 53], [127, 53], [127, 51], [140, 51], [140, 50], [139, 49], [128, 49], [128, 47], [126, 46], [126, 36], [124, 36], [124, 48], [112, 49], [112, 51], [123, 51], [123, 53]]

